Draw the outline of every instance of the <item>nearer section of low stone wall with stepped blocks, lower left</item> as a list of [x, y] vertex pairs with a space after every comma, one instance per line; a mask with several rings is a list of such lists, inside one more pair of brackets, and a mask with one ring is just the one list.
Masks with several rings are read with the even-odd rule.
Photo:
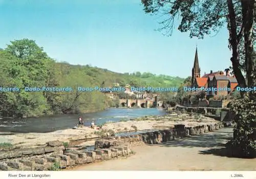
[[46, 146], [37, 148], [0, 151], [0, 170], [53, 170], [54, 165], [57, 168], [74, 167], [79, 164], [109, 160], [129, 154], [131, 154], [129, 145], [81, 151], [65, 150], [62, 142], [51, 141]]

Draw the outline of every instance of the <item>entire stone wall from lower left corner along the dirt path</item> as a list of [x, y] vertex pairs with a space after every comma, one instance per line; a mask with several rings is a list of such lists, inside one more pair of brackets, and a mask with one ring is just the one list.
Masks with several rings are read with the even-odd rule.
[[50, 141], [37, 148], [0, 150], [0, 170], [52, 170], [54, 164], [59, 168], [74, 167], [79, 164], [127, 156], [132, 153], [130, 145], [159, 144], [169, 140], [199, 135], [200, 133], [232, 126], [232, 122], [185, 127], [175, 125], [174, 129], [146, 132], [127, 137], [108, 137], [95, 142], [90, 151], [66, 150], [60, 141]]

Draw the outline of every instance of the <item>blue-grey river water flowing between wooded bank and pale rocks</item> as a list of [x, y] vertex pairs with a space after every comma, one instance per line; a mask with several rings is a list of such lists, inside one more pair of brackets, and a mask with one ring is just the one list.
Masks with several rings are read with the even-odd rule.
[[[81, 114], [84, 125], [90, 126], [109, 121], [129, 120], [142, 116], [165, 115], [165, 110], [158, 108], [109, 108], [96, 113]], [[55, 115], [40, 118], [0, 119], [0, 132], [51, 132], [68, 129], [78, 123], [78, 115]]]

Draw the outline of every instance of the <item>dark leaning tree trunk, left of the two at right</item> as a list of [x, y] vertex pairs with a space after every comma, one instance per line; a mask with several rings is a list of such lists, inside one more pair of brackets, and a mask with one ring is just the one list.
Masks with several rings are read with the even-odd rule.
[[[238, 58], [238, 36], [237, 36], [237, 23], [236, 14], [234, 12], [234, 6], [232, 0], [227, 0], [229, 21], [230, 21], [230, 44], [232, 47], [232, 57], [231, 62], [233, 66], [234, 75], [237, 78], [240, 87], [246, 87], [246, 81], [240, 69], [240, 62]], [[244, 96], [244, 92], [240, 92], [241, 96]]]

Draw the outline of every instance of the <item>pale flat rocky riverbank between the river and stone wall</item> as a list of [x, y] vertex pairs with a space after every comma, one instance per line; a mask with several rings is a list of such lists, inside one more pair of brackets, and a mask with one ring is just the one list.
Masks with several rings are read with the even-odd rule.
[[[78, 127], [76, 129], [57, 130], [48, 133], [18, 133], [15, 135], [1, 136], [0, 143], [11, 143], [14, 147], [37, 147], [45, 145], [48, 141], [59, 140], [62, 142], [93, 140], [110, 135], [110, 133], [143, 131], [143, 130], [160, 130], [169, 129], [176, 124], [184, 124], [186, 127], [215, 124], [216, 121], [201, 115], [182, 114], [174, 112], [165, 116], [136, 118], [131, 121], [112, 122], [102, 125], [102, 130], [92, 129], [90, 127]], [[103, 131], [103, 132], [102, 132]]]

